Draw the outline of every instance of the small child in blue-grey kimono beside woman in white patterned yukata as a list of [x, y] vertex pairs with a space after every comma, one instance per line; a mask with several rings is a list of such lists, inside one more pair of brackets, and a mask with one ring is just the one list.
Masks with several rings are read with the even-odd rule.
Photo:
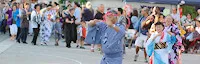
[[56, 23], [53, 26], [53, 33], [55, 35], [55, 46], [59, 46], [58, 42], [62, 37], [62, 23], [60, 22], [60, 17], [56, 17]]

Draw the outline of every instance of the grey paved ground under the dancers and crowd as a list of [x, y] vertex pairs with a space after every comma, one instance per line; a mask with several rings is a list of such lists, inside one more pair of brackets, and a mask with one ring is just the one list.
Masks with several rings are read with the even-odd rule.
[[[0, 64], [99, 64], [102, 55], [98, 52], [90, 52], [90, 47], [86, 49], [66, 48], [64, 42], [60, 46], [54, 46], [54, 40], [48, 46], [33, 46], [30, 44], [16, 43], [10, 41], [8, 35], [0, 35]], [[4, 39], [3, 39], [4, 38]], [[38, 41], [39, 42], [39, 41]], [[145, 64], [142, 51], [138, 62], [133, 61], [134, 48], [126, 49], [123, 64]], [[200, 55], [183, 54], [183, 64], [199, 64]]]

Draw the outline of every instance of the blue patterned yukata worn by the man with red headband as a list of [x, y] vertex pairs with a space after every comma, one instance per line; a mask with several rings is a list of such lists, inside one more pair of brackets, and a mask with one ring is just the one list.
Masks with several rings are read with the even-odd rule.
[[120, 23], [117, 23], [116, 26], [120, 28], [119, 32], [108, 27], [104, 22], [98, 22], [94, 27], [89, 26], [88, 28], [89, 34], [85, 41], [89, 44], [102, 45], [104, 56], [101, 64], [122, 64], [122, 38], [125, 36], [125, 26]]

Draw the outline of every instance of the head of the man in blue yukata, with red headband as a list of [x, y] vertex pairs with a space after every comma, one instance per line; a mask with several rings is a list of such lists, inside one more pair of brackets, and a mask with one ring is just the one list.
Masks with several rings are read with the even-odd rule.
[[117, 22], [118, 13], [115, 10], [110, 10], [105, 14], [106, 21], [111, 21], [113, 24]]

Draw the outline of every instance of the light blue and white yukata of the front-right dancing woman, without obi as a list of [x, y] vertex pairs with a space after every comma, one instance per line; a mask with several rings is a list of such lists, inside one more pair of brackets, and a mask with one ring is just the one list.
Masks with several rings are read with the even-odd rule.
[[[176, 42], [176, 37], [171, 36], [167, 32], [163, 32], [163, 36], [158, 36], [154, 40], [153, 38], [157, 35], [158, 33], [155, 32], [151, 35], [151, 37], [147, 40], [146, 43], [146, 52], [148, 56], [153, 56], [153, 64], [170, 64], [169, 63], [169, 53], [171, 52], [172, 46]], [[161, 39], [161, 37], [163, 37]], [[165, 48], [161, 49], [155, 49], [156, 45], [159, 43], [166, 43]]]

